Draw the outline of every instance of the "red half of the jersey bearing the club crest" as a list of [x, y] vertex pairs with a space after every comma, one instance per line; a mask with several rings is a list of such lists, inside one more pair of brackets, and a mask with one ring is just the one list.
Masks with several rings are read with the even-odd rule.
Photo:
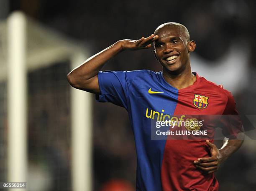
[[[193, 104], [195, 94], [208, 97], [210, 104], [204, 109], [195, 107]], [[217, 85], [208, 83], [207, 80], [197, 75], [197, 80], [193, 85], [179, 90], [174, 115], [221, 115], [226, 103], [226, 95], [220, 93]], [[199, 103], [195, 104], [198, 106]], [[214, 174], [203, 175], [193, 164], [197, 158], [209, 156], [210, 150], [205, 140], [166, 140], [161, 167], [163, 191], [217, 191], [218, 181]]]

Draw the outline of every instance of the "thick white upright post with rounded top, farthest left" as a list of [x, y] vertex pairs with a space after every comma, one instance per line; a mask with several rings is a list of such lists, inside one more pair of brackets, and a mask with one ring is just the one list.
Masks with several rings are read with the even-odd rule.
[[[26, 18], [16, 12], [8, 24], [8, 182], [26, 182], [27, 80]], [[14, 190], [14, 189], [10, 189]]]

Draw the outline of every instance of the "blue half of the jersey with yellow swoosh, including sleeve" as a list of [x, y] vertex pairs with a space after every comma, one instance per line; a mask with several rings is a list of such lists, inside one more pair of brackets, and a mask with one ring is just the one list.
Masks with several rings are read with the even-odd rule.
[[[136, 190], [161, 190], [161, 165], [166, 140], [151, 140], [151, 123], [158, 113], [173, 115], [178, 90], [166, 84], [162, 73], [150, 70], [108, 71], [98, 74], [99, 101], [127, 109], [136, 143]], [[148, 93], [148, 90], [164, 93]]]

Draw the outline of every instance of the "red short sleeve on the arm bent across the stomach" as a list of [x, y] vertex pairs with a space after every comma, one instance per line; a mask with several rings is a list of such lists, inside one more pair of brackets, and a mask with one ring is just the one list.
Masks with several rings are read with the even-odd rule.
[[238, 133], [243, 131], [243, 125], [236, 110], [236, 102], [233, 95], [227, 90], [224, 91], [228, 100], [223, 115], [220, 118], [220, 127], [225, 137], [234, 139]]

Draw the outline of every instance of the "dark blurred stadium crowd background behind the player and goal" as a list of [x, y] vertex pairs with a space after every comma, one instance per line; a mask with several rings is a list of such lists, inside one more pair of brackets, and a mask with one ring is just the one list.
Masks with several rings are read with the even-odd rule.
[[[241, 114], [256, 115], [256, 4], [253, 0], [3, 0], [0, 9], [4, 5], [8, 11], [2, 12], [1, 19], [13, 10], [23, 10], [40, 23], [79, 40], [90, 49], [91, 55], [118, 40], [150, 35], [161, 23], [182, 23], [197, 45], [191, 55], [192, 69], [230, 90]], [[161, 66], [152, 50], [123, 52], [103, 70], [159, 71]], [[70, 87], [66, 80], [70, 69], [69, 63], [57, 63], [28, 74], [30, 178], [33, 181], [37, 181], [36, 177], [45, 178], [47, 189], [52, 191], [71, 189]], [[256, 126], [255, 121], [254, 117], [247, 123]], [[221, 145], [220, 141], [215, 142]], [[215, 173], [220, 190], [254, 190], [255, 161], [256, 141], [245, 141]], [[114, 189], [111, 183], [131, 190], [129, 185], [134, 187], [135, 176], [134, 139], [125, 109], [94, 101], [94, 190]], [[51, 182], [57, 184], [52, 186]]]

